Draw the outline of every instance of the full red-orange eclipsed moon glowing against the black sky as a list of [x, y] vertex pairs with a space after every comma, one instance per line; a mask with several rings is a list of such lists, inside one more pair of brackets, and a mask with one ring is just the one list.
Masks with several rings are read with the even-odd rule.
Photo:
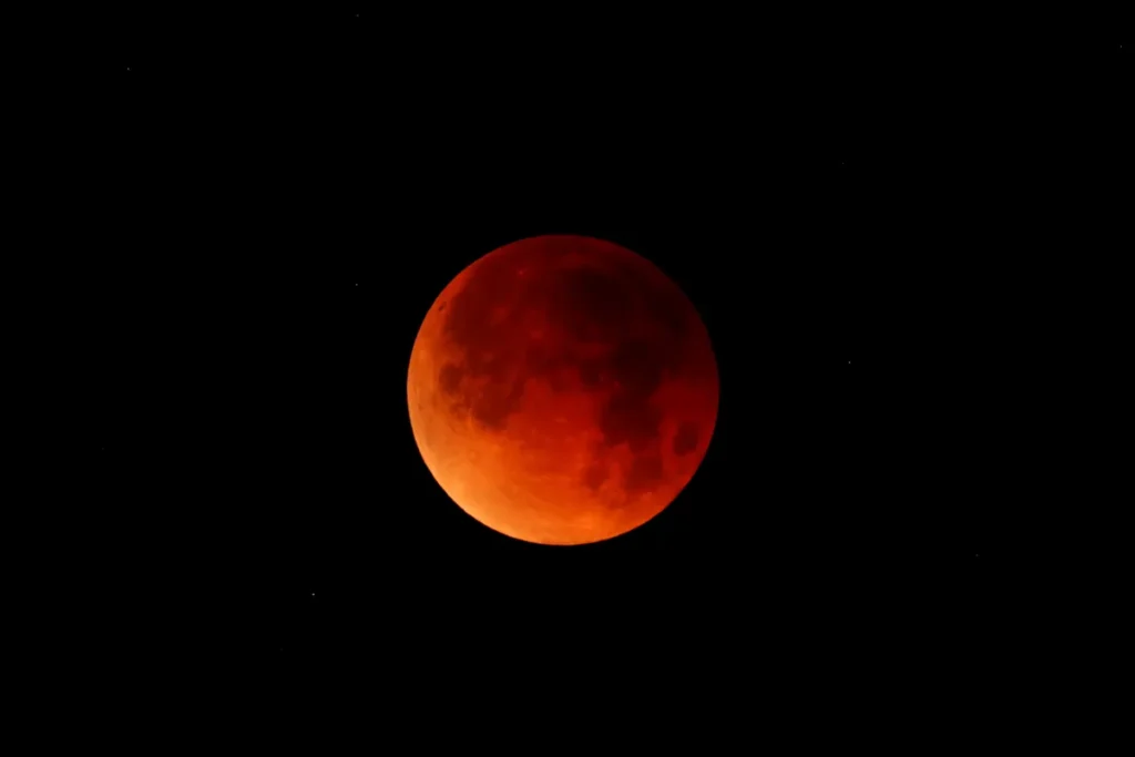
[[705, 456], [717, 365], [686, 295], [611, 242], [538, 236], [474, 261], [418, 331], [410, 423], [466, 513], [524, 541], [647, 522]]

